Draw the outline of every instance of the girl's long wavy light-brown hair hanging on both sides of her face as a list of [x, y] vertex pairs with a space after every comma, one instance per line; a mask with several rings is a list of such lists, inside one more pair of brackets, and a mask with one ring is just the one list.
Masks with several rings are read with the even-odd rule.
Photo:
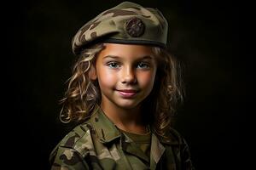
[[[84, 121], [90, 117], [95, 106], [100, 105], [100, 88], [97, 81], [90, 79], [90, 65], [95, 65], [96, 54], [103, 48], [103, 43], [97, 43], [79, 54], [65, 97], [61, 99], [61, 122]], [[154, 132], [166, 138], [177, 104], [183, 102], [181, 67], [166, 49], [152, 47], [152, 51], [157, 60], [156, 78], [152, 92], [143, 100], [142, 108]]]

